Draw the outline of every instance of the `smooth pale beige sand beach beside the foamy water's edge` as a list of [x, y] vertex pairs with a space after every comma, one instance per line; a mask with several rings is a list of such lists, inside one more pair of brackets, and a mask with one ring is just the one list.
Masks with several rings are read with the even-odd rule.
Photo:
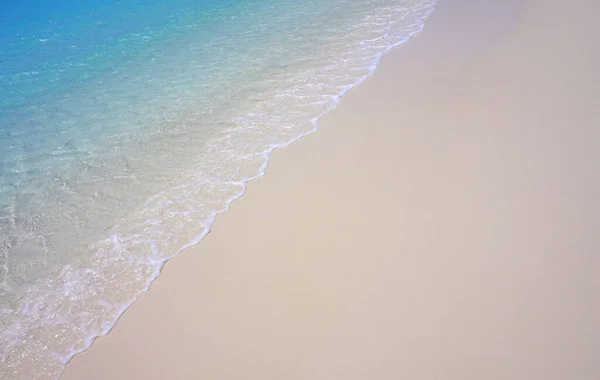
[[598, 3], [442, 1], [64, 379], [600, 379]]

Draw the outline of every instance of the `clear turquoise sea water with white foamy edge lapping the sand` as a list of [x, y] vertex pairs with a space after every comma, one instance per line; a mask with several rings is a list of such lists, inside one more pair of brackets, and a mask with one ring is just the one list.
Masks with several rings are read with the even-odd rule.
[[2, 2], [0, 379], [57, 378], [434, 5]]

